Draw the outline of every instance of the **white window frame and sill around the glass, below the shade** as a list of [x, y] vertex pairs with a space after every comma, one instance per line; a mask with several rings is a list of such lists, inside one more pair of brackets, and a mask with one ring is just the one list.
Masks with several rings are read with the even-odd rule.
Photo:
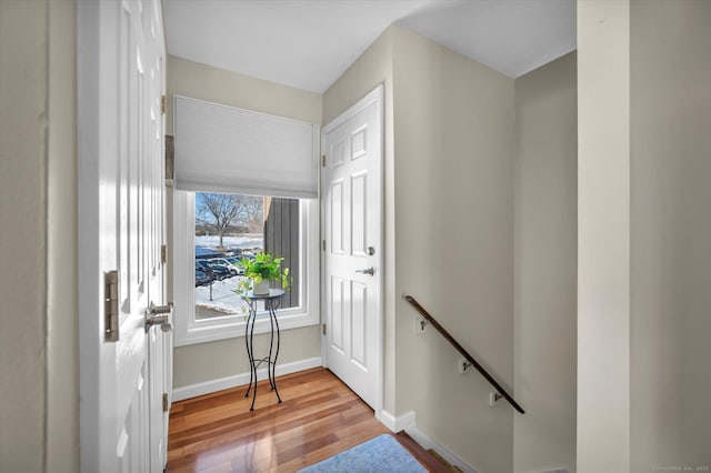
[[[196, 320], [196, 192], [173, 191], [173, 324], [174, 345], [192, 345], [244, 336], [246, 316], [226, 315]], [[317, 325], [319, 313], [319, 201], [299, 200], [299, 245], [301, 264], [300, 305], [278, 311], [280, 330]], [[257, 314], [254, 334], [271, 330], [266, 312]]]

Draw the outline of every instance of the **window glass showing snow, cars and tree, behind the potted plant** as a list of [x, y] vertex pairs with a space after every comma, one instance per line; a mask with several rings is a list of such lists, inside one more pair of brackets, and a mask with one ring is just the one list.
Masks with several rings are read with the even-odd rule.
[[300, 248], [298, 199], [196, 193], [196, 320], [244, 313], [239, 262], [262, 251], [284, 258], [293, 282], [281, 306], [299, 306]]

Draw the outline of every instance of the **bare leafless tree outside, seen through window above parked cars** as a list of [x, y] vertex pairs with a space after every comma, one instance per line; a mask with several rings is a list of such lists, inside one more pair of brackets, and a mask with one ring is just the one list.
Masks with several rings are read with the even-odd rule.
[[231, 228], [252, 228], [262, 221], [262, 197], [199, 193], [196, 198], [196, 220], [201, 225], [214, 230], [220, 236], [220, 249], [224, 248], [223, 238]]

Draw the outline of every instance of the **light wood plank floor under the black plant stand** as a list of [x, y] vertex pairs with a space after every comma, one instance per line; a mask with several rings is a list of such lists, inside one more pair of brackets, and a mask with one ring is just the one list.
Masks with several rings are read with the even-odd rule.
[[168, 472], [293, 472], [388, 429], [326, 369], [267, 381], [250, 412], [247, 386], [180, 401], [170, 411]]

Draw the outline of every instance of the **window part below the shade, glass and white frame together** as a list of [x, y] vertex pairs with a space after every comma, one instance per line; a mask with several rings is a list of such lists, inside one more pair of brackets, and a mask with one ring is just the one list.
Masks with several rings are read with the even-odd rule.
[[[244, 335], [237, 263], [260, 251], [283, 256], [293, 276], [280, 328], [319, 323], [317, 200], [177, 190], [173, 202], [176, 345]], [[258, 312], [254, 333], [268, 330]]]

